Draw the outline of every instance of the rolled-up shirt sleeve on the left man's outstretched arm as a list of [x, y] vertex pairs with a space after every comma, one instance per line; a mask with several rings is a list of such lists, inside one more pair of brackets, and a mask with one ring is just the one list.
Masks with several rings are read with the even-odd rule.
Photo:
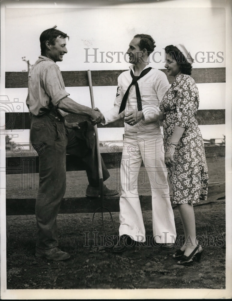
[[57, 107], [62, 98], [70, 95], [65, 91], [65, 84], [58, 66], [51, 65], [47, 67], [43, 73], [42, 81], [44, 89], [55, 107]]

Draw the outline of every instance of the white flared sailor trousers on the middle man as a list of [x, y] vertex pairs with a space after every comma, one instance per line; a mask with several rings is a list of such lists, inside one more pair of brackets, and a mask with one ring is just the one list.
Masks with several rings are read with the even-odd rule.
[[164, 164], [163, 138], [161, 134], [151, 132], [125, 132], [124, 135], [119, 235], [127, 234], [135, 241], [146, 241], [138, 196], [138, 173], [142, 160], [151, 184], [153, 237], [156, 243], [174, 243], [176, 228]]

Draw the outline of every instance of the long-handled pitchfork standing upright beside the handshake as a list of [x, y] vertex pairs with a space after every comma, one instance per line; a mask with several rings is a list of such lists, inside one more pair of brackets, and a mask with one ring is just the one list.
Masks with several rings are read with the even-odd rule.
[[[89, 79], [89, 90], [90, 90], [91, 105], [92, 105], [92, 109], [94, 109], [95, 105], [94, 105], [92, 78], [91, 78], [91, 71], [90, 70], [87, 71], [87, 75], [88, 75], [88, 79]], [[95, 210], [95, 212], [93, 213], [92, 226], [93, 226], [93, 230], [94, 230], [94, 224], [93, 224], [94, 216], [95, 216], [95, 213], [99, 210], [99, 211], [101, 211], [102, 225], [103, 225], [104, 231], [106, 233], [104, 220], [103, 220], [103, 209], [106, 209], [109, 213], [110, 213], [110, 210], [108, 208], [104, 207], [104, 184], [103, 184], [103, 174], [102, 174], [102, 167], [101, 167], [101, 153], [100, 153], [99, 140], [98, 140], [98, 128], [97, 128], [96, 124], [94, 126], [94, 133], [95, 133], [97, 156], [98, 156], [98, 174], [99, 174], [99, 183], [100, 183], [101, 207], [97, 208]], [[110, 217], [111, 217], [111, 220], [113, 222], [113, 218], [112, 218], [111, 213], [110, 213]], [[114, 229], [115, 229], [116, 233], [118, 233], [116, 228], [115, 228], [114, 222], [113, 222], [113, 226], [114, 226]], [[107, 233], [106, 233], [106, 235], [107, 235]]]

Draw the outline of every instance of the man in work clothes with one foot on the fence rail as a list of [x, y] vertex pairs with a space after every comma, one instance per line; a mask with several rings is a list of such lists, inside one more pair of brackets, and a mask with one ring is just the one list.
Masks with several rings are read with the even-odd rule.
[[[26, 104], [31, 118], [30, 139], [39, 155], [39, 190], [44, 197], [36, 199], [35, 215], [38, 238], [35, 255], [50, 260], [65, 260], [68, 253], [58, 248], [56, 218], [66, 188], [66, 153], [81, 157], [89, 185], [86, 195], [100, 194], [95, 140], [90, 122], [83, 128], [77, 122], [68, 123], [65, 112], [86, 115], [100, 122], [102, 115], [69, 98], [57, 61], [67, 53], [66, 33], [53, 28], [41, 33], [41, 56], [29, 72]], [[103, 179], [109, 178], [104, 162]], [[118, 192], [104, 186], [104, 195]]]

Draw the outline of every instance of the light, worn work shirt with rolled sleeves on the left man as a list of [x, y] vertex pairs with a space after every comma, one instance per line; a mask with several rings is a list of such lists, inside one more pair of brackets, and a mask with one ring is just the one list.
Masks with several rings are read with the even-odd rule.
[[[52, 105], [56, 108], [68, 95], [59, 66], [48, 57], [39, 56], [28, 75], [26, 104], [29, 111], [36, 116], [43, 115]], [[59, 112], [63, 116], [68, 114], [62, 110]]]

